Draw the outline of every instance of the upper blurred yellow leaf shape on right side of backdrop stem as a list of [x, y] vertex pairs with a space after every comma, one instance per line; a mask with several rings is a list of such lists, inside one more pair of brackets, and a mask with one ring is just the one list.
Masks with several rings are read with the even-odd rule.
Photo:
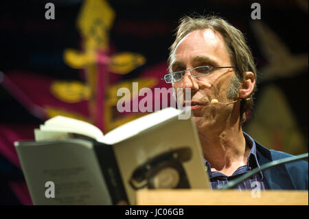
[[122, 52], [111, 57], [109, 71], [113, 73], [126, 74], [137, 67], [144, 65], [146, 58], [132, 52]]

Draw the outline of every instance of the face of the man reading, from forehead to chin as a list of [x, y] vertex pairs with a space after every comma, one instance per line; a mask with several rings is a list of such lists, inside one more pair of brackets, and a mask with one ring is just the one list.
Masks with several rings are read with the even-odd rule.
[[[199, 66], [229, 67], [231, 60], [225, 41], [218, 32], [206, 29], [187, 34], [176, 46], [172, 56], [172, 71], [192, 69]], [[231, 115], [233, 104], [211, 104], [212, 99], [227, 103], [229, 84], [235, 73], [233, 68], [215, 69], [207, 76], [193, 78], [190, 71], [173, 84], [175, 89], [189, 88], [192, 95], [192, 113], [199, 132], [224, 126]]]

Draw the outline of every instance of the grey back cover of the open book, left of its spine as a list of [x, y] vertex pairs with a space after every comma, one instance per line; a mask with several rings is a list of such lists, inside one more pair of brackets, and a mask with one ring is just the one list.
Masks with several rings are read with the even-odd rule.
[[[91, 141], [16, 142], [34, 205], [111, 205]], [[54, 183], [54, 198], [45, 183]]]

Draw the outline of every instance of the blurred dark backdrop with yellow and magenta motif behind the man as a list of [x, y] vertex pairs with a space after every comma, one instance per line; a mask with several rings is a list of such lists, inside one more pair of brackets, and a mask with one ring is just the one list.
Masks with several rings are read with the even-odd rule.
[[[47, 2], [54, 19], [45, 19]], [[267, 148], [308, 152], [308, 1], [1, 1], [0, 204], [32, 205], [13, 142], [34, 139], [46, 119], [74, 117], [106, 133], [144, 115], [119, 113], [117, 89], [169, 88], [160, 80], [168, 48], [179, 18], [194, 12], [227, 19], [253, 51], [258, 92], [244, 130]]]

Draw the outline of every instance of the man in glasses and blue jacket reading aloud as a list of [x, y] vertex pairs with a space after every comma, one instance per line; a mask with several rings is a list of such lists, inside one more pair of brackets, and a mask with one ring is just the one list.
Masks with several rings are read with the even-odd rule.
[[[189, 104], [213, 189], [264, 163], [292, 156], [268, 150], [242, 132], [253, 106], [256, 69], [235, 27], [216, 16], [184, 17], [170, 47], [169, 64], [165, 82], [191, 91]], [[308, 163], [265, 170], [238, 189], [252, 189], [253, 182], [261, 189], [308, 189]]]

